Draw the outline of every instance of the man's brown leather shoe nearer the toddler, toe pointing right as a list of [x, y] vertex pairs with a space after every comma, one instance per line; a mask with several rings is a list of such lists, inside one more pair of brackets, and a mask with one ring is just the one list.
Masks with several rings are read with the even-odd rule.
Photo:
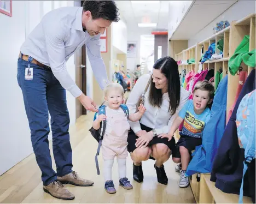
[[77, 174], [77, 172], [72, 171], [71, 173], [68, 173], [65, 176], [57, 177], [57, 179], [62, 184], [72, 184], [72, 185], [78, 185], [79, 187], [89, 187], [94, 184], [93, 181], [86, 180], [83, 178], [80, 178]]

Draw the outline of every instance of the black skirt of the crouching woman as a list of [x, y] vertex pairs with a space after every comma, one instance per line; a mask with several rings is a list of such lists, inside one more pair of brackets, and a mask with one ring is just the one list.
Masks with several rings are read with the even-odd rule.
[[[141, 124], [141, 129], [146, 130], [147, 132], [152, 130], [152, 128], [148, 128], [147, 126], [145, 126], [143, 124]], [[128, 142], [127, 149], [129, 152], [133, 152], [137, 148], [135, 146], [137, 138], [138, 137], [135, 135], [135, 133], [132, 130], [130, 130], [129, 134], [128, 134], [128, 138], [127, 138], [127, 142]], [[169, 149], [171, 149], [171, 151], [173, 151], [173, 149], [175, 148], [175, 140], [173, 137], [172, 137], [171, 141], [168, 141], [168, 138], [153, 137], [153, 139], [149, 142], [148, 146], [158, 144], [158, 143], [163, 143], [163, 144], [167, 145], [169, 147]]]

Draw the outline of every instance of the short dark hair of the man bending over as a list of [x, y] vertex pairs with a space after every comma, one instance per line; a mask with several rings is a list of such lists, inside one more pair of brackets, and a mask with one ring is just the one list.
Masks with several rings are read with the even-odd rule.
[[92, 19], [105, 19], [111, 22], [119, 21], [117, 5], [114, 1], [84, 1], [83, 11], [91, 11]]

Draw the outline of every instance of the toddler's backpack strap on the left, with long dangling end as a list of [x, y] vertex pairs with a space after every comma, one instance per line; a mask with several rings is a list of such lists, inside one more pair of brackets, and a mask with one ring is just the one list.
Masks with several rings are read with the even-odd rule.
[[[105, 105], [101, 105], [98, 108], [98, 115], [100, 116], [102, 114], [106, 115], [106, 106]], [[98, 140], [98, 148], [97, 148], [97, 152], [95, 155], [95, 164], [96, 164], [96, 169], [97, 169], [97, 175], [100, 175], [100, 167], [98, 166], [98, 155], [100, 155], [100, 149], [101, 149], [102, 139], [103, 139], [103, 136], [104, 136], [105, 130], [106, 130], [106, 125], [107, 125], [106, 120], [101, 121], [100, 129], [98, 129], [100, 135], [99, 135], [99, 140]]]

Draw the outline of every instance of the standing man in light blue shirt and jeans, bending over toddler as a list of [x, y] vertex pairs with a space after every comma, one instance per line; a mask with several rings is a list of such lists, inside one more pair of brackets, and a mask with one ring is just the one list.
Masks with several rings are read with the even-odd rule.
[[[114, 1], [85, 1], [83, 7], [56, 9], [43, 17], [20, 48], [17, 79], [24, 97], [32, 146], [42, 171], [43, 189], [59, 199], [74, 199], [61, 183], [94, 184], [72, 171], [66, 89], [85, 109], [94, 112], [97, 109], [75, 85], [67, 72], [66, 61], [85, 44], [97, 82], [104, 88], [108, 78], [101, 58], [100, 34], [118, 20]], [[57, 173], [52, 169], [48, 145], [48, 111]]]

